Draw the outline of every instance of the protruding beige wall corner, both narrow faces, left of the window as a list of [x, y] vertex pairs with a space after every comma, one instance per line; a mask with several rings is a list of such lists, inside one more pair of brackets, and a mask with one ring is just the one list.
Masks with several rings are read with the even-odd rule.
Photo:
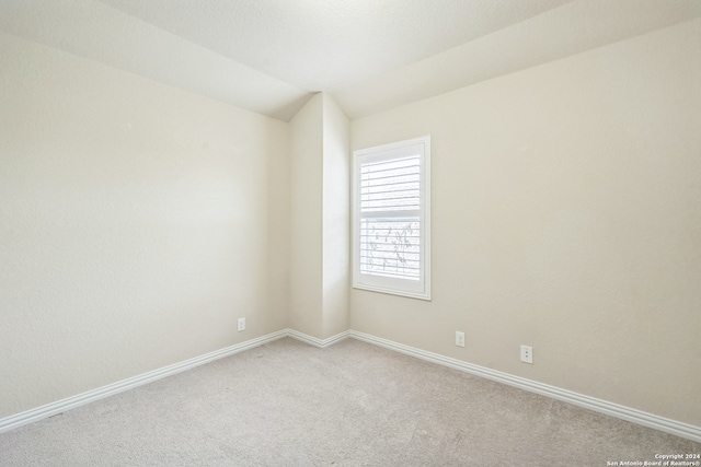
[[323, 93], [290, 121], [289, 326], [318, 339], [348, 329], [348, 132]]

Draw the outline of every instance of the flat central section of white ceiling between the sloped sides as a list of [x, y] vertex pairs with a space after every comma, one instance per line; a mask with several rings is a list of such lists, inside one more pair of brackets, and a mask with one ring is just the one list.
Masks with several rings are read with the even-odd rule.
[[100, 0], [307, 91], [336, 92], [571, 0]]

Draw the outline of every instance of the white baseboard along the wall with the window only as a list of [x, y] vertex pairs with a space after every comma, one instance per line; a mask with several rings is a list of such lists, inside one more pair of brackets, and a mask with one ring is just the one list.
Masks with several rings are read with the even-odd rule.
[[498, 383], [504, 383], [509, 386], [518, 387], [531, 393], [537, 393], [542, 396], [552, 397], [553, 399], [562, 400], [574, 406], [583, 407], [585, 409], [594, 410], [596, 412], [605, 413], [607, 416], [616, 417], [625, 421], [630, 421], [632, 423], [641, 424], [643, 427], [652, 428], [665, 433], [674, 434], [679, 437], [685, 437], [687, 440], [701, 443], [701, 427], [694, 427], [676, 420], [658, 417], [653, 413], [647, 413], [637, 409], [632, 409], [630, 407], [608, 402], [595, 397], [585, 396], [583, 394], [573, 393], [567, 389], [561, 389], [555, 386], [538, 383], [536, 381], [527, 380], [520, 376], [514, 376], [508, 373], [502, 373], [496, 370], [491, 370], [484, 366], [467, 363], [461, 360], [444, 357], [438, 353], [427, 352], [414, 347], [404, 346], [403, 343], [398, 343], [391, 340], [375, 337], [369, 334], [352, 330], [349, 331], [349, 337], [363, 340], [368, 343], [374, 343], [376, 346], [384, 347], [387, 349], [395, 350], [398, 352], [426, 360], [428, 362], [438, 363], [439, 365], [448, 366], [466, 373], [471, 373], [476, 376], [482, 376], [489, 380], [496, 381]]

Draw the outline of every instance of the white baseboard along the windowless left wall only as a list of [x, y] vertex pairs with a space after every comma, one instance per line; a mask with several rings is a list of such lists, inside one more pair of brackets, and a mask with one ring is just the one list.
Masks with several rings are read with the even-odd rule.
[[288, 329], [278, 330], [276, 332], [261, 336], [255, 339], [246, 340], [245, 342], [235, 343], [233, 346], [226, 347], [220, 350], [215, 350], [214, 352], [206, 353], [204, 355], [195, 357], [194, 359], [185, 360], [172, 365], [153, 370], [148, 373], [140, 374], [138, 376], [119, 381], [117, 383], [108, 384], [106, 386], [102, 386], [96, 389], [79, 394], [77, 396], [68, 397], [62, 400], [57, 400], [56, 402], [50, 402], [35, 409], [5, 417], [3, 419], [0, 419], [0, 433], [13, 430], [27, 423], [39, 421], [57, 413], [65, 412], [66, 410], [74, 409], [76, 407], [84, 406], [85, 404], [103, 399], [105, 397], [135, 388], [137, 386], [152, 383], [163, 377], [172, 376], [176, 373], [194, 369], [195, 366], [204, 365], [205, 363], [209, 363], [225, 357], [233, 355], [234, 353], [243, 352], [244, 350], [249, 350], [257, 346], [263, 346], [264, 343], [268, 343], [287, 336]]

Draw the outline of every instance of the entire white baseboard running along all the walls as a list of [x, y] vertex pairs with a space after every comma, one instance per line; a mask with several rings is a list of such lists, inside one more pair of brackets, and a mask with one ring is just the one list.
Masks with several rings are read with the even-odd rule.
[[622, 420], [630, 421], [632, 423], [648, 427], [655, 430], [670, 433], [676, 436], [685, 437], [687, 440], [701, 443], [701, 427], [694, 427], [691, 424], [682, 423], [676, 420], [658, 417], [653, 413], [643, 412], [641, 410], [632, 409], [629, 407], [620, 406], [618, 404], [608, 402], [606, 400], [597, 399], [595, 397], [585, 396], [582, 394], [573, 393], [567, 389], [561, 389], [559, 387], [550, 386], [547, 384], [538, 383], [531, 380], [522, 378], [520, 376], [514, 376], [508, 373], [502, 373], [496, 370], [491, 370], [484, 366], [467, 363], [461, 360], [444, 357], [438, 353], [427, 352], [425, 350], [416, 349], [414, 347], [404, 346], [403, 343], [393, 342], [391, 340], [382, 339], [371, 336], [369, 334], [358, 332], [355, 330], [347, 330], [327, 339], [318, 339], [312, 336], [308, 336], [303, 332], [299, 332], [295, 329], [281, 329], [276, 332], [272, 332], [265, 336], [261, 336], [255, 339], [246, 340], [245, 342], [237, 343], [225, 349], [220, 349], [210, 353], [206, 353], [194, 359], [185, 360], [180, 363], [175, 363], [162, 369], [154, 370], [152, 372], [143, 373], [138, 376], [134, 376], [127, 380], [123, 380], [117, 383], [113, 383], [87, 393], [79, 394], [77, 396], [69, 397], [67, 399], [58, 400], [56, 402], [47, 404], [35, 409], [31, 409], [14, 416], [10, 416], [0, 419], [0, 433], [13, 430], [18, 427], [22, 427], [27, 423], [32, 423], [54, 415], [65, 412], [66, 410], [73, 409], [76, 407], [90, 404], [94, 400], [99, 400], [108, 396], [112, 396], [124, 390], [131, 389], [143, 384], [152, 383], [157, 380], [174, 375], [176, 373], [191, 370], [195, 366], [209, 363], [211, 361], [232, 355], [234, 353], [242, 352], [244, 350], [252, 349], [257, 346], [272, 342], [274, 340], [291, 337], [294, 339], [306, 342], [310, 346], [324, 348], [331, 346], [347, 337], [363, 340], [375, 346], [384, 347], [390, 350], [394, 350], [411, 357], [415, 357], [428, 362], [437, 363], [439, 365], [448, 366], [455, 370], [459, 370], [466, 373], [471, 373], [478, 376], [482, 376], [489, 380], [504, 383], [509, 386], [518, 387], [520, 389], [537, 393], [553, 399], [562, 400], [585, 409], [594, 410], [600, 413], [605, 413], [611, 417], [616, 417]]

